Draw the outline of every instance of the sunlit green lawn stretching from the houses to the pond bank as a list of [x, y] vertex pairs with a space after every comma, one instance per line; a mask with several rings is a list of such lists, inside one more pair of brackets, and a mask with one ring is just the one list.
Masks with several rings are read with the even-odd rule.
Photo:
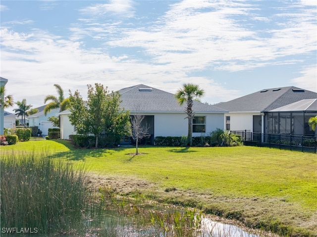
[[[264, 147], [140, 147], [74, 149], [67, 141], [29, 141], [1, 146], [10, 154], [47, 151], [89, 171], [142, 180], [131, 191], [170, 203], [199, 207], [281, 235], [317, 236], [317, 155]], [[135, 182], [137, 183], [137, 182]], [[111, 185], [111, 183], [104, 183]]]

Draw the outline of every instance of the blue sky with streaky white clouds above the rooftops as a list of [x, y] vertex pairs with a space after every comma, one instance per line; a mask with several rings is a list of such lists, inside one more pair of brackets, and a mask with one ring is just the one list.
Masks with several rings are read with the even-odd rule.
[[[1, 0], [0, 76], [33, 108], [145, 84], [184, 83], [216, 104], [263, 89], [317, 92], [316, 0]], [[11, 109], [16, 108], [16, 105]]]

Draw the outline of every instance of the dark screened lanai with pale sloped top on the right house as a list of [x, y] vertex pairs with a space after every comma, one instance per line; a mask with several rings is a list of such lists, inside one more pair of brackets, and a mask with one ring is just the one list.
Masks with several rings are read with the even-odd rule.
[[270, 134], [315, 135], [308, 125], [317, 116], [317, 99], [303, 99], [265, 114], [265, 132]]

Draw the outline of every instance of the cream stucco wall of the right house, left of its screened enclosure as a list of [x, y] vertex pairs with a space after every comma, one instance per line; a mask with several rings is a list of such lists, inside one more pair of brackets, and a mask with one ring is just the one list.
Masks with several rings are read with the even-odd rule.
[[253, 132], [253, 115], [260, 115], [259, 112], [234, 113], [230, 112], [224, 115], [230, 116], [230, 130], [251, 130]]

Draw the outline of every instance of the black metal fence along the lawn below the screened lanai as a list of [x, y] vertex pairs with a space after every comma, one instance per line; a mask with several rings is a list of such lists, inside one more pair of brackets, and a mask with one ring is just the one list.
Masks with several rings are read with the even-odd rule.
[[266, 146], [314, 153], [316, 153], [317, 149], [317, 136], [252, 133], [250, 130], [231, 131], [231, 133], [240, 135], [245, 145]]

